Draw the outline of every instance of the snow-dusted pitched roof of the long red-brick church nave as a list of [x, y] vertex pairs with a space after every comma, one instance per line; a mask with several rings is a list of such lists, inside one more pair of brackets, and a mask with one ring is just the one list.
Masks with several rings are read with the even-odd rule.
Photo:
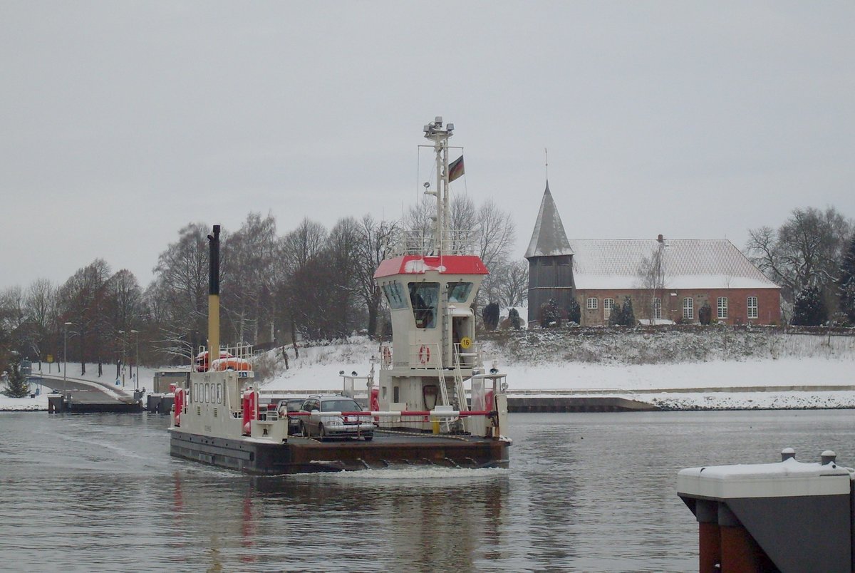
[[[640, 268], [660, 249], [657, 239], [571, 239], [579, 289], [642, 288]], [[780, 288], [727, 239], [664, 239], [664, 287]]]

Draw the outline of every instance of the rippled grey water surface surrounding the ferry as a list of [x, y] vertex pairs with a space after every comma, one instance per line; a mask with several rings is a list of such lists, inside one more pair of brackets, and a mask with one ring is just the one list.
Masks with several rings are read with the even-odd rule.
[[[251, 477], [170, 458], [166, 416], [0, 414], [14, 570], [693, 570], [682, 467], [855, 464], [851, 414], [512, 415], [510, 470]], [[14, 436], [14, 439], [8, 439]]]

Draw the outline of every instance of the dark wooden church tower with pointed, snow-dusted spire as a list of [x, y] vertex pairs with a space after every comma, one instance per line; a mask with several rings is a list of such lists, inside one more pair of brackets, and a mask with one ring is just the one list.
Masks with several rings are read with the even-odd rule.
[[573, 249], [552, 200], [549, 181], [526, 251], [528, 259], [528, 322], [540, 319], [540, 305], [555, 299], [562, 316], [574, 294]]

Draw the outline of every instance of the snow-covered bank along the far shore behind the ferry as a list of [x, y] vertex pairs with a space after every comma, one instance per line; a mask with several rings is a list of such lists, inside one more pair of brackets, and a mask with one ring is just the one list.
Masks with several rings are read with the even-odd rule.
[[[588, 357], [584, 361], [573, 360], [568, 352], [538, 351], [542, 340], [526, 348], [521, 348], [519, 341], [516, 346], [486, 341], [484, 355], [488, 367], [495, 361], [508, 375], [511, 395], [607, 393], [680, 410], [855, 408], [855, 338], [843, 338], [846, 340], [828, 340], [825, 344], [823, 337], [784, 336], [742, 342], [730, 338], [730, 350], [722, 353], [712, 347], [719, 344], [712, 337], [693, 340], [691, 344], [698, 349], [694, 361], [677, 363], [629, 363], [639, 356], [638, 346], [657, 344], [657, 340], [647, 340], [643, 335], [637, 341], [625, 335], [622, 340], [631, 344], [622, 352], [614, 350], [612, 346], [616, 345], [610, 340], [602, 341], [600, 344], [612, 351], [608, 357], [601, 356], [601, 362], [589, 358], [603, 354], [588, 347], [591, 340], [579, 343], [586, 345], [584, 352], [578, 352]], [[566, 339], [558, 342], [563, 347], [569, 344]], [[667, 345], [668, 339], [659, 342]], [[753, 350], [744, 350], [748, 347]], [[734, 348], [740, 351], [734, 353]], [[376, 343], [361, 338], [301, 347], [299, 357], [291, 347], [286, 351], [288, 369], [279, 349], [268, 352], [258, 365], [257, 373], [263, 376], [262, 394], [340, 391], [341, 370], [368, 375], [370, 359], [378, 355]], [[734, 357], [728, 359], [727, 355]], [[139, 387], [153, 386], [154, 370], [140, 369]], [[111, 383], [110, 377], [98, 378], [93, 372], [97, 372], [94, 366], [87, 367], [85, 378]], [[80, 377], [79, 369], [74, 374]], [[132, 388], [133, 382], [126, 380], [124, 389]], [[116, 390], [121, 391], [121, 387]], [[18, 400], [0, 397], [0, 410], [46, 408], [44, 396]]]

